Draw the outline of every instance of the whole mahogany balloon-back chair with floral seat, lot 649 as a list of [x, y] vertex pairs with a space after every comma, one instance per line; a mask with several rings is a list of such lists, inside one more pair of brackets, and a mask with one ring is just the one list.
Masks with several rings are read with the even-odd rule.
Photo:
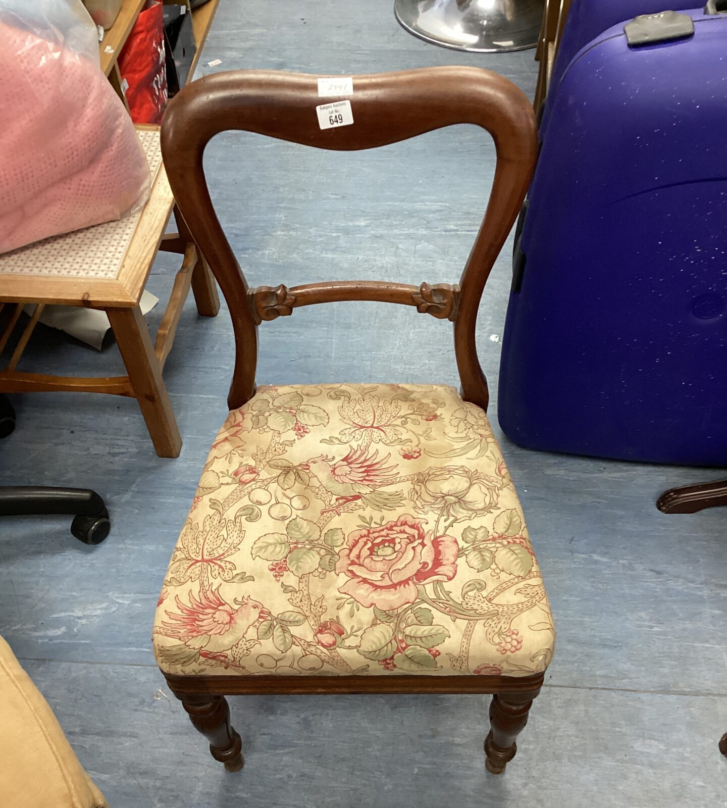
[[[242, 753], [227, 695], [427, 692], [494, 694], [486, 765], [503, 772], [554, 633], [485, 415], [475, 325], [531, 178], [532, 107], [511, 82], [481, 69], [354, 76], [352, 92], [344, 82], [338, 98], [321, 98], [318, 79], [216, 74], [187, 86], [166, 112], [166, 171], [229, 304], [237, 355], [229, 417], [174, 549], [154, 651], [230, 771], [242, 768]], [[321, 118], [320, 107], [336, 101], [345, 103]], [[238, 129], [355, 150], [464, 123], [493, 135], [498, 160], [459, 286], [248, 287], [208, 193], [202, 161], [212, 137]], [[447, 385], [255, 389], [260, 322], [349, 300], [411, 305], [452, 321], [461, 398]]]

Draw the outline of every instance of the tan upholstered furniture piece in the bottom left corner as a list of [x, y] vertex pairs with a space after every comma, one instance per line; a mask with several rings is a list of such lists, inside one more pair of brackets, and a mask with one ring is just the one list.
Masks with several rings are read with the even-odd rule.
[[53, 710], [0, 638], [0, 805], [108, 808]]

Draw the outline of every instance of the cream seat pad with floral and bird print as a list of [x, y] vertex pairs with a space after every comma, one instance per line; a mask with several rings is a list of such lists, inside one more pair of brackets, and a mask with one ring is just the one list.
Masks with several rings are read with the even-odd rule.
[[154, 625], [180, 675], [532, 675], [553, 622], [485, 412], [260, 387], [212, 445]]

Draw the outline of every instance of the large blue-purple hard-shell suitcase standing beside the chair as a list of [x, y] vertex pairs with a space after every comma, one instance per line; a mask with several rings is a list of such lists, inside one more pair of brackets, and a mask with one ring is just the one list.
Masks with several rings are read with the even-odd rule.
[[517, 444], [727, 465], [727, 14], [681, 13], [677, 40], [603, 32], [553, 95], [502, 344]]

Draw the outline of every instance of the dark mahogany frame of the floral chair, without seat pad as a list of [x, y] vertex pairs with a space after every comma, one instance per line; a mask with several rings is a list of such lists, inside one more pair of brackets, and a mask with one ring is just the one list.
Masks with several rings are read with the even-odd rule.
[[[179, 209], [229, 305], [236, 358], [229, 408], [255, 392], [258, 324], [302, 305], [384, 301], [454, 324], [463, 398], [486, 409], [488, 391], [477, 360], [475, 326], [485, 282], [523, 203], [536, 160], [536, 123], [530, 103], [506, 78], [466, 67], [435, 67], [353, 77], [354, 122], [321, 129], [317, 75], [243, 70], [208, 76], [182, 90], [162, 124], [162, 155]], [[343, 98], [344, 96], [342, 96]], [[203, 155], [216, 134], [259, 133], [318, 149], [356, 150], [403, 141], [452, 124], [477, 124], [494, 138], [497, 166], [485, 217], [458, 286], [387, 281], [333, 281], [286, 288], [250, 288], [225, 238], [204, 175]], [[165, 674], [166, 675], [166, 674]], [[493, 694], [486, 765], [500, 773], [515, 755], [544, 674], [241, 676], [166, 675], [192, 724], [210, 741], [212, 756], [229, 771], [242, 768], [240, 736], [230, 726], [225, 696], [293, 693]]]

